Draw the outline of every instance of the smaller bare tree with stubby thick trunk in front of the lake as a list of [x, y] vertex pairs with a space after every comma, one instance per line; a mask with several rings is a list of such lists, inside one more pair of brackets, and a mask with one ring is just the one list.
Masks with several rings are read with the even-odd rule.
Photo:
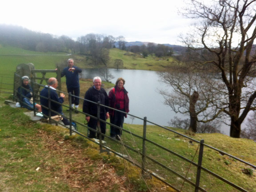
[[[197, 122], [207, 123], [221, 116], [217, 90], [219, 84], [211, 74], [196, 68], [196, 65], [183, 60], [182, 66], [172, 67], [166, 72], [158, 72], [160, 81], [168, 85], [166, 90], [159, 90], [164, 96], [164, 103], [176, 113], [190, 116], [189, 130], [197, 132]], [[173, 90], [170, 91], [169, 87]]]

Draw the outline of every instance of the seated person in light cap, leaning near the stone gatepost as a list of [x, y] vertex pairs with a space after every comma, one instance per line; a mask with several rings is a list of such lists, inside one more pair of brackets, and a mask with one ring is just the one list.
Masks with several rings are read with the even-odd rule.
[[[29, 77], [23, 76], [21, 78], [22, 85], [18, 88], [17, 96], [20, 100], [20, 106], [23, 108], [27, 108], [29, 110], [33, 110], [33, 103], [30, 101], [32, 99], [32, 87], [29, 85]], [[26, 98], [28, 97], [28, 98]], [[35, 107], [38, 112], [42, 112], [42, 108], [40, 104], [35, 103]]]

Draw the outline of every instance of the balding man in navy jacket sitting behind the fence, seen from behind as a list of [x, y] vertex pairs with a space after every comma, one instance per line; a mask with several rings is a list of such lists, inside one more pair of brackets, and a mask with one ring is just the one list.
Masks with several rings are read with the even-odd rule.
[[[65, 95], [64, 95], [64, 93], [60, 93], [60, 97], [59, 97], [57, 92], [56, 92], [57, 87], [58, 87], [57, 79], [54, 78], [54, 77], [51, 77], [48, 80], [48, 85], [46, 85], [42, 89], [42, 91], [40, 92], [40, 104], [42, 106], [46, 107], [46, 108], [42, 107], [42, 112], [46, 117], [49, 116], [49, 110], [47, 109], [48, 108], [48, 99], [43, 98], [42, 96], [48, 98], [48, 89], [50, 91], [51, 100], [54, 100], [54, 101], [58, 102], [58, 103], [55, 103], [55, 102], [51, 101], [51, 103], [50, 103], [50, 105], [51, 105], [51, 116], [59, 115], [56, 112], [60, 113], [61, 115], [64, 115], [63, 112], [62, 112], [62, 105], [61, 104], [64, 102]], [[65, 117], [63, 117], [62, 122], [64, 123], [64, 125], [69, 125], [70, 124], [69, 120]]]

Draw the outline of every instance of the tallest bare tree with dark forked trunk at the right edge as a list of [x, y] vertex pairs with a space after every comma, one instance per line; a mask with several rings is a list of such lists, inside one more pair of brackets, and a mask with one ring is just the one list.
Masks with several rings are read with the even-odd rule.
[[[230, 117], [230, 136], [239, 138], [241, 124], [256, 109], [256, 90], [248, 89], [255, 75], [256, 0], [202, 0], [187, 2], [183, 14], [197, 20], [182, 39], [192, 50], [204, 50], [202, 64], [221, 74], [228, 98], [223, 111]], [[211, 57], [208, 57], [208, 54]]]

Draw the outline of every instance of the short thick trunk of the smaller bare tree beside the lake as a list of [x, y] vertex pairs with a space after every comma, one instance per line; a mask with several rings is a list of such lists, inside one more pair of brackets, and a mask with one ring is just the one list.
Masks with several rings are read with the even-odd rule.
[[198, 92], [194, 91], [192, 96], [190, 96], [190, 100], [189, 100], [189, 115], [190, 115], [190, 124], [189, 124], [189, 128], [188, 130], [192, 131], [192, 132], [196, 132], [197, 130], [197, 114], [196, 114], [196, 109], [195, 109], [195, 105], [196, 102], [198, 100]]

